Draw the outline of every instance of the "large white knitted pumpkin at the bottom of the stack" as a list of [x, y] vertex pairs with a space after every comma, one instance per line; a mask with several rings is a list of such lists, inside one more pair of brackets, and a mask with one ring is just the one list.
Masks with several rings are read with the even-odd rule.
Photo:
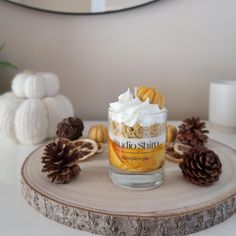
[[0, 133], [21, 143], [37, 144], [54, 137], [57, 124], [73, 115], [73, 107], [63, 95], [22, 99], [7, 93], [0, 97]]

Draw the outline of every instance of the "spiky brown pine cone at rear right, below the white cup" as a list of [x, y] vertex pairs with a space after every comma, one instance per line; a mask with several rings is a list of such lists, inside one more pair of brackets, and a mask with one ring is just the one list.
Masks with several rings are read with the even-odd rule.
[[204, 145], [208, 140], [206, 133], [209, 133], [205, 129], [205, 125], [205, 122], [201, 122], [199, 117], [184, 120], [179, 126], [179, 141], [192, 147]]

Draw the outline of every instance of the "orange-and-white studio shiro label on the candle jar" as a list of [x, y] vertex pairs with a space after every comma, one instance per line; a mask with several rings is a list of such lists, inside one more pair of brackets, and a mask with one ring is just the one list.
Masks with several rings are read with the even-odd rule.
[[165, 135], [129, 139], [109, 134], [109, 159], [112, 166], [124, 171], [154, 171], [165, 161]]

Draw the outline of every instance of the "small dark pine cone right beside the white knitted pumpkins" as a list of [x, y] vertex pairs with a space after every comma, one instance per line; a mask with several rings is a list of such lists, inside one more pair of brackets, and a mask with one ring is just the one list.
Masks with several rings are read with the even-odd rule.
[[84, 130], [83, 121], [78, 117], [69, 117], [63, 119], [57, 125], [57, 137], [76, 140], [82, 136]]

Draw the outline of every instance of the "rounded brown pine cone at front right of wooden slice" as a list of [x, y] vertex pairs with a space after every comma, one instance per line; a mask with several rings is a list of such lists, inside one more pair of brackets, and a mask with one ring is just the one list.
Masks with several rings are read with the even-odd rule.
[[179, 166], [187, 180], [200, 186], [211, 185], [222, 172], [217, 154], [205, 147], [195, 147], [185, 153]]

